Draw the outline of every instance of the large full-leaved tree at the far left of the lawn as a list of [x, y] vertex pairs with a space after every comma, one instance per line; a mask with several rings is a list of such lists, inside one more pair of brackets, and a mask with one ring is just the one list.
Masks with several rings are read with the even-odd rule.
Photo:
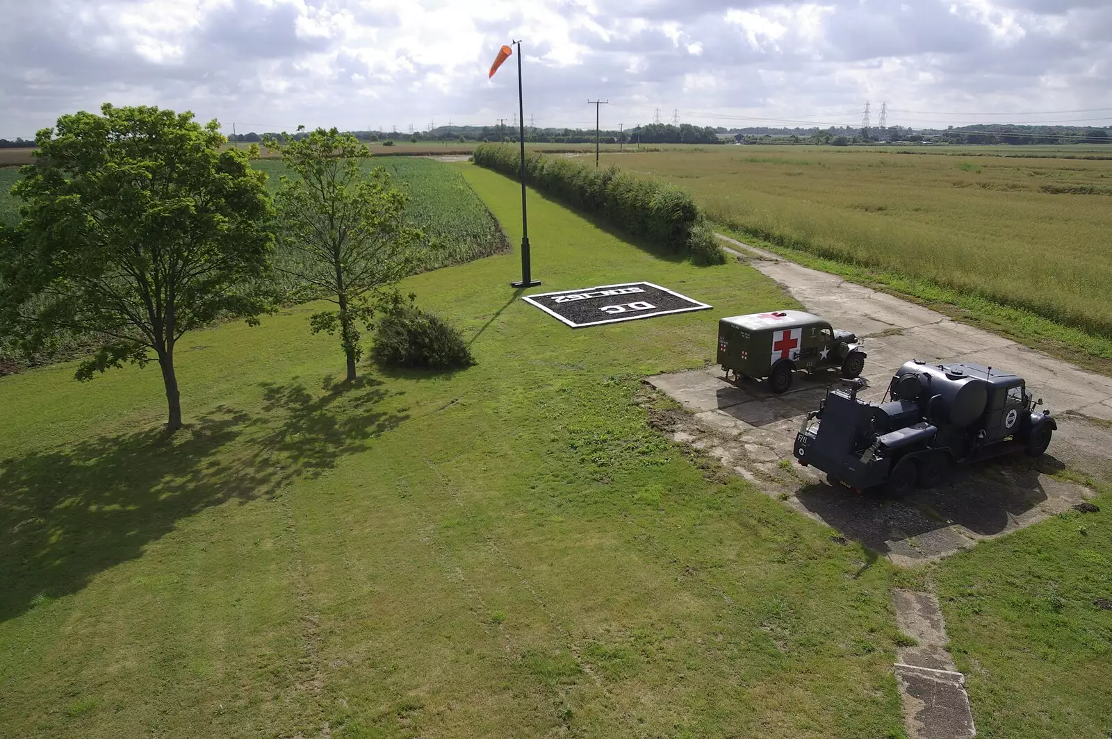
[[221, 151], [217, 121], [151, 107], [62, 116], [36, 143], [13, 188], [21, 221], [0, 231], [0, 330], [24, 351], [98, 339], [79, 380], [153, 351], [176, 431], [178, 340], [266, 307], [247, 288], [272, 250], [266, 176]]

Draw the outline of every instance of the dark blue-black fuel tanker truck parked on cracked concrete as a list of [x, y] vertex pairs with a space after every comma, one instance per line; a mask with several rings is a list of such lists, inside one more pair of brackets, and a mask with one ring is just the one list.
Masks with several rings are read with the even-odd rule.
[[912, 360], [880, 403], [857, 399], [860, 380], [844, 385], [804, 419], [793, 453], [854, 490], [902, 496], [939, 485], [955, 465], [1019, 450], [1037, 457], [1058, 429], [1023, 378], [992, 367]]

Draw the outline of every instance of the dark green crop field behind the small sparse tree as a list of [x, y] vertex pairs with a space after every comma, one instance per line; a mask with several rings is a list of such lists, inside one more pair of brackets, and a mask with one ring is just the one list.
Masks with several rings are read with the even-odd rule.
[[[268, 184], [277, 189], [285, 166], [274, 159], [254, 166], [267, 172]], [[457, 168], [417, 157], [376, 157], [371, 166], [386, 169], [394, 184], [410, 198], [406, 218], [426, 237], [420, 269], [458, 264], [509, 248], [498, 222]]]

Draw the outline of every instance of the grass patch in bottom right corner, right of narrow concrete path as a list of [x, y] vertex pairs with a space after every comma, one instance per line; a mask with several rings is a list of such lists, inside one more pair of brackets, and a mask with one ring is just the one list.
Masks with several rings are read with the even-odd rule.
[[1112, 512], [1096, 487], [1100, 512], [1068, 511], [930, 573], [977, 736], [1112, 736]]

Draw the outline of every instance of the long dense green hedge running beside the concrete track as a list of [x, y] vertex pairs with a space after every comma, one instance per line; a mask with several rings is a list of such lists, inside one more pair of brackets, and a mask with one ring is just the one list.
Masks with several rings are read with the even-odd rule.
[[[520, 154], [514, 147], [475, 148], [476, 164], [517, 178]], [[696, 263], [726, 261], [703, 213], [685, 190], [635, 177], [617, 167], [595, 169], [560, 157], [526, 154], [525, 180], [573, 208], [597, 214], [619, 229], [674, 252], [689, 253]]]

